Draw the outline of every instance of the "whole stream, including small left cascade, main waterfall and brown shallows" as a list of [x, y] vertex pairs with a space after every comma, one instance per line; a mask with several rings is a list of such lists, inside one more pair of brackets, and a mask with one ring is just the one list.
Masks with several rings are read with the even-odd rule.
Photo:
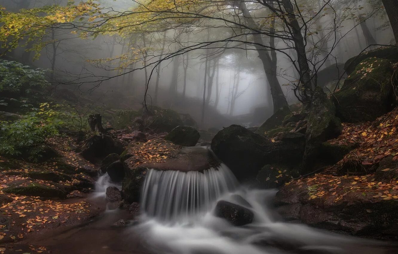
[[[89, 197], [104, 207], [92, 221], [33, 239], [55, 254], [393, 254], [386, 242], [339, 235], [279, 219], [271, 201], [275, 190], [239, 186], [225, 166], [209, 172], [150, 170], [142, 194], [142, 215], [106, 206], [111, 183], [100, 176]], [[185, 201], [183, 201], [183, 199]], [[215, 217], [218, 200], [254, 212], [254, 221], [234, 227]], [[128, 225], [116, 226], [119, 219]], [[32, 243], [33, 243], [32, 242]]]

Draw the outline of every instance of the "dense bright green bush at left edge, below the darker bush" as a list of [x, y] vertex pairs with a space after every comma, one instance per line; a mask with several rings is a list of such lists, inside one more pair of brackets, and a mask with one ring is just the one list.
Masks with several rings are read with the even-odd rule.
[[37, 161], [45, 150], [45, 140], [57, 135], [55, 125], [43, 123], [31, 113], [15, 122], [0, 121], [0, 153], [6, 155], [27, 155]]

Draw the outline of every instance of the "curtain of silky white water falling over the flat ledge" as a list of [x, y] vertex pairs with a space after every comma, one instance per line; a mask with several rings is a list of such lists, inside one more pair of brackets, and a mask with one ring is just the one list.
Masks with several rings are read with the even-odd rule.
[[205, 212], [222, 194], [236, 189], [238, 182], [221, 164], [203, 172], [149, 170], [141, 196], [146, 216], [176, 221]]

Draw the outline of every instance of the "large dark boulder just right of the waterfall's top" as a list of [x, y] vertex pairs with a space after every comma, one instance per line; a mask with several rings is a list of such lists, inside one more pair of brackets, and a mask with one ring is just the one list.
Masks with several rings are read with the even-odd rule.
[[271, 141], [240, 125], [222, 129], [211, 141], [211, 149], [238, 180], [255, 177], [265, 164], [264, 153]]

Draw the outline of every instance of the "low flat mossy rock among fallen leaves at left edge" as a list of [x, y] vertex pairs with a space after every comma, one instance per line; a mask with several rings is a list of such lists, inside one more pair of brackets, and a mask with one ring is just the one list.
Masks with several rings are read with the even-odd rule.
[[26, 195], [26, 196], [39, 196], [39, 197], [59, 197], [64, 198], [66, 193], [64, 193], [59, 188], [53, 186], [47, 186], [39, 183], [31, 183], [26, 186], [10, 186], [3, 189], [5, 193], [15, 194], [15, 195]]

